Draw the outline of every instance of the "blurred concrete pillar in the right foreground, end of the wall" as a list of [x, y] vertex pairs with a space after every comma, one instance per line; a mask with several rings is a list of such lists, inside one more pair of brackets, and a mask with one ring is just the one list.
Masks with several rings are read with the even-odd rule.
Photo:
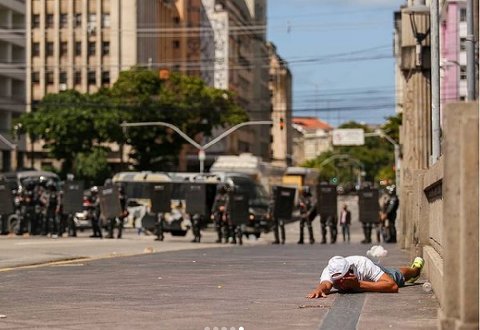
[[440, 329], [479, 329], [479, 103], [450, 103], [445, 132]]

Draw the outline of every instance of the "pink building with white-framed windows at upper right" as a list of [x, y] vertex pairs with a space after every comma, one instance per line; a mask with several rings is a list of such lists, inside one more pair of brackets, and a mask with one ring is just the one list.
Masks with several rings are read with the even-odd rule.
[[441, 107], [467, 95], [466, 0], [445, 0], [441, 8]]

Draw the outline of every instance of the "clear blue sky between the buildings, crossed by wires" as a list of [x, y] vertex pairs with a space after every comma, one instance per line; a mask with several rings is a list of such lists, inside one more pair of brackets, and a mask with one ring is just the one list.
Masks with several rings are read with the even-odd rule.
[[267, 39], [289, 62], [294, 116], [338, 126], [395, 114], [393, 14], [405, 2], [268, 1]]

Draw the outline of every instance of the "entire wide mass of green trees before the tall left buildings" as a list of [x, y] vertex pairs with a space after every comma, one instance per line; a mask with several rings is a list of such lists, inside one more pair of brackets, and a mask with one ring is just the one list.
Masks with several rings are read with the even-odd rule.
[[[44, 141], [50, 157], [64, 161], [64, 172], [75, 172], [75, 162], [80, 162], [104, 173], [104, 161], [99, 158], [105, 158], [107, 152], [99, 147], [105, 150], [105, 143], [130, 145], [129, 156], [137, 170], [162, 170], [176, 163], [186, 143], [165, 127], [122, 130], [124, 121], [167, 122], [198, 138], [210, 136], [213, 127], [246, 120], [246, 112], [235, 103], [230, 91], [176, 73], [161, 80], [153, 71], [136, 68], [121, 72], [111, 87], [94, 94], [75, 90], [47, 94], [38, 109], [22, 115], [18, 122], [30, 137]], [[93, 164], [96, 160], [98, 164]], [[96, 175], [84, 166], [77, 172], [80, 176]]]

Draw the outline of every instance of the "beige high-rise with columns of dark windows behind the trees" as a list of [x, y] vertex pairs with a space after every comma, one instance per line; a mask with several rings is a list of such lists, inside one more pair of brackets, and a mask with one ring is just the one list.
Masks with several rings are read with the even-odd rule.
[[[180, 56], [180, 41], [159, 38], [156, 29], [178, 20], [167, 0], [26, 1], [27, 111], [47, 93], [93, 93], [122, 70]], [[109, 161], [120, 165], [120, 148], [111, 147]], [[45, 151], [41, 142], [29, 144], [29, 164], [58, 165]]]

